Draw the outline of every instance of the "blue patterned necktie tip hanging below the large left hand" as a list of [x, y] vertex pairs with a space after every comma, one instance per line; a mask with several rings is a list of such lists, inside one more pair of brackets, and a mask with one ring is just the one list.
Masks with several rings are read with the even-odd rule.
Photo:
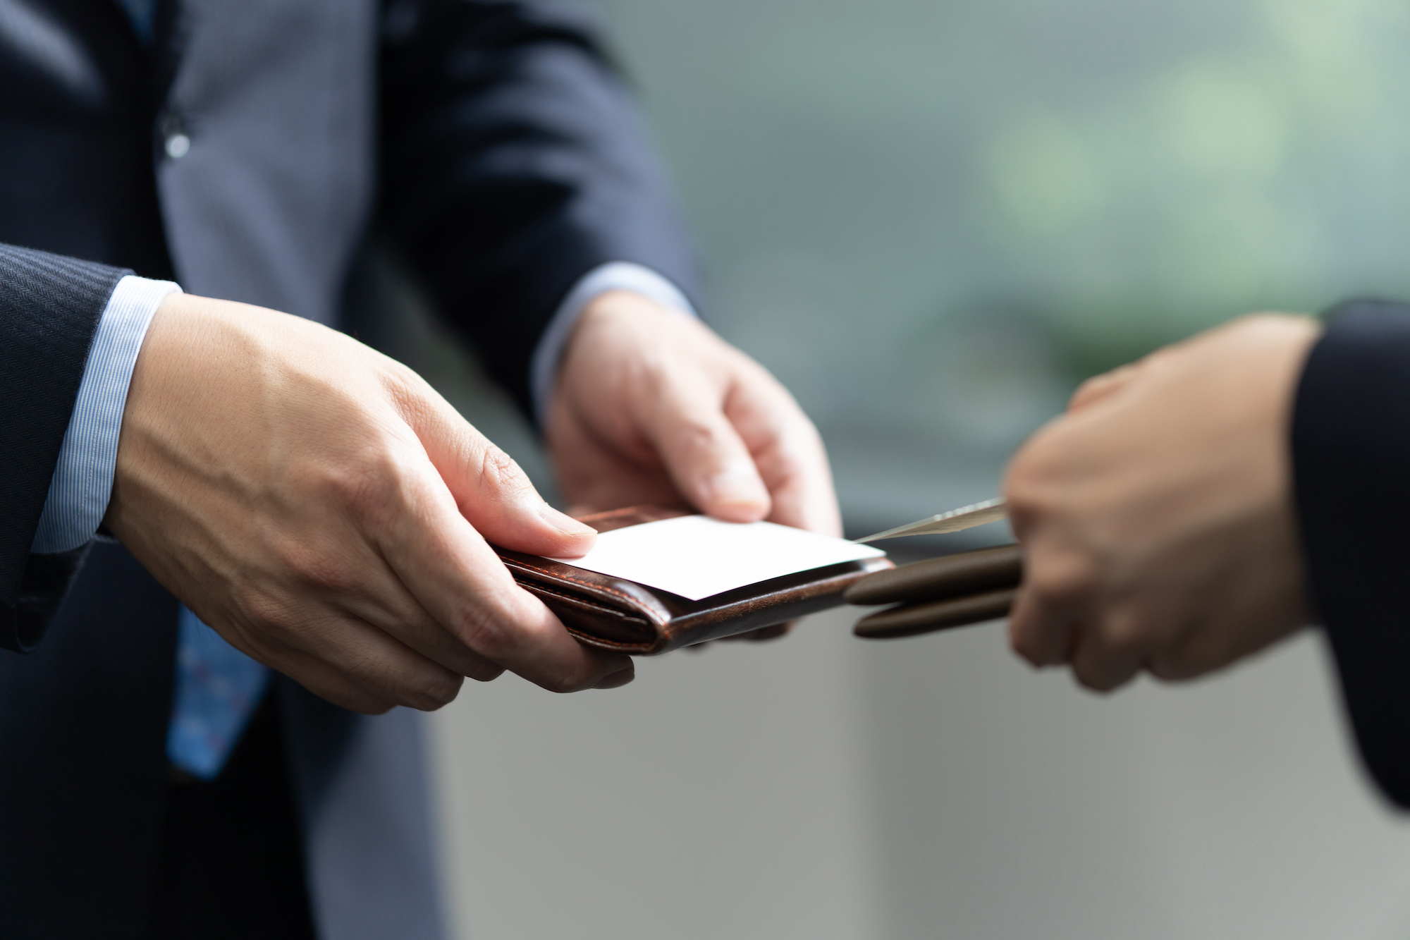
[[166, 758], [212, 781], [259, 704], [269, 669], [227, 644], [185, 607], [176, 632], [176, 694], [166, 728]]

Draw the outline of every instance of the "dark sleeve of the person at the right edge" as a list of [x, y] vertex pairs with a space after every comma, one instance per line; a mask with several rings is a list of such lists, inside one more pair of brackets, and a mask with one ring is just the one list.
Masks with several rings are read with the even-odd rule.
[[1299, 382], [1292, 449], [1311, 597], [1356, 742], [1410, 807], [1410, 306], [1331, 313]]

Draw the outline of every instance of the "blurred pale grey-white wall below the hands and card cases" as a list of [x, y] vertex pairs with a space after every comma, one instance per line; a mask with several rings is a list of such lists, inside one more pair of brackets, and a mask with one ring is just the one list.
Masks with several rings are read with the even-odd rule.
[[461, 937], [1279, 940], [1410, 933], [1410, 827], [1358, 775], [1303, 637], [1110, 699], [991, 624], [850, 615], [440, 713]]

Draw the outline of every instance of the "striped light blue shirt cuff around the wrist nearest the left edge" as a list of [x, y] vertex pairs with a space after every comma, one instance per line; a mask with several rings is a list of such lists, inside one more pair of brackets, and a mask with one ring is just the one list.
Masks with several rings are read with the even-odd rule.
[[117, 473], [117, 438], [123, 429], [127, 387], [137, 354], [162, 298], [180, 291], [171, 281], [127, 275], [117, 282], [89, 349], [79, 397], [31, 552], [69, 552], [93, 538], [107, 512]]

